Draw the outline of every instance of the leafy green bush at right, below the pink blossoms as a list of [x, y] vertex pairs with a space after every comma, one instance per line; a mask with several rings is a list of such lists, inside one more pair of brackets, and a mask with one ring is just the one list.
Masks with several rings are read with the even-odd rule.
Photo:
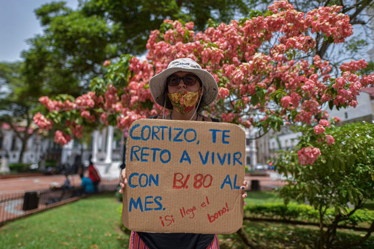
[[[296, 128], [301, 132], [307, 129], [310, 127]], [[335, 142], [320, 147], [322, 155], [313, 165], [299, 164], [297, 151], [316, 146], [321, 139], [318, 136], [300, 137], [294, 150], [273, 159], [278, 172], [288, 176], [288, 184], [279, 189], [285, 203], [291, 198], [299, 202], [307, 200], [318, 211], [321, 249], [331, 248], [338, 224], [348, 222], [367, 200], [374, 199], [374, 125], [360, 122], [332, 126], [324, 135], [331, 135]], [[334, 213], [329, 212], [330, 208], [334, 208]], [[374, 220], [367, 235], [352, 245], [367, 239], [372, 231]]]

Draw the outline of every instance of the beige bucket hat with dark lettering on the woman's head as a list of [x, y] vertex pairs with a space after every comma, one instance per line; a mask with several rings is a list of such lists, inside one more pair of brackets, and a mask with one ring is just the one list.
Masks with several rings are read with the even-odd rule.
[[160, 106], [164, 106], [166, 99], [166, 108], [173, 109], [168, 97], [165, 96], [166, 78], [175, 72], [192, 72], [200, 78], [205, 91], [201, 98], [202, 106], [209, 106], [218, 96], [218, 85], [213, 75], [201, 68], [197, 62], [190, 58], [181, 58], [173, 60], [168, 67], [157, 75], [154, 75], [149, 80], [149, 90], [151, 91], [154, 101]]

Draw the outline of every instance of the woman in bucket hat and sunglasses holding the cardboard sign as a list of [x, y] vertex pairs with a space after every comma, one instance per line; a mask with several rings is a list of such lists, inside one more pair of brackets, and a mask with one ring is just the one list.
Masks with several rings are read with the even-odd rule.
[[[152, 116], [156, 119], [196, 120], [219, 122], [218, 119], [203, 116], [204, 107], [213, 103], [218, 96], [218, 85], [214, 77], [201, 68], [194, 60], [182, 58], [173, 60], [168, 68], [152, 77], [149, 88], [154, 101], [164, 107], [162, 116]], [[170, 115], [165, 116], [165, 109]], [[125, 169], [120, 176], [123, 193], [126, 179]], [[240, 187], [248, 189], [248, 183]], [[242, 197], [246, 197], [243, 191]], [[246, 203], [244, 203], [246, 205]], [[131, 232], [130, 249], [215, 249], [219, 248], [217, 235], [194, 233], [145, 233]]]

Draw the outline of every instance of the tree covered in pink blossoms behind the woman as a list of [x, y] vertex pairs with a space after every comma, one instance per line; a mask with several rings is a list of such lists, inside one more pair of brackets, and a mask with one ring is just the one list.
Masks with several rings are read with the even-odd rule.
[[37, 113], [34, 122], [46, 130], [55, 128], [55, 141], [61, 144], [72, 136], [79, 138], [83, 127], [95, 122], [128, 128], [161, 110], [153, 102], [149, 79], [171, 60], [190, 57], [218, 83], [212, 115], [263, 133], [284, 124], [309, 127], [301, 137], [298, 158], [301, 165], [313, 164], [321, 155], [319, 147], [334, 139], [325, 136], [325, 127], [337, 121], [328, 121], [322, 106], [356, 106], [356, 96], [374, 83], [374, 74], [361, 75], [367, 63], [358, 60], [341, 65], [341, 74], [329, 75], [329, 62], [313, 53], [316, 35], [331, 43], [343, 43], [352, 35], [349, 16], [339, 13], [340, 6], [303, 13], [288, 1], [275, 1], [268, 9], [229, 24], [209, 22], [204, 32], [195, 32], [193, 22], [165, 20], [151, 32], [147, 60], [123, 55], [113, 65], [105, 61], [107, 73], [92, 80], [89, 93], [76, 99], [41, 97], [47, 114]]

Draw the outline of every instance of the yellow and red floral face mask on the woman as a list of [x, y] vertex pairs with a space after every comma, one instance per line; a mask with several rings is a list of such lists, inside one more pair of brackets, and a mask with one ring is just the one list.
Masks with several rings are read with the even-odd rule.
[[190, 112], [199, 102], [201, 91], [180, 91], [178, 93], [168, 93], [168, 97], [174, 108], [181, 114]]

